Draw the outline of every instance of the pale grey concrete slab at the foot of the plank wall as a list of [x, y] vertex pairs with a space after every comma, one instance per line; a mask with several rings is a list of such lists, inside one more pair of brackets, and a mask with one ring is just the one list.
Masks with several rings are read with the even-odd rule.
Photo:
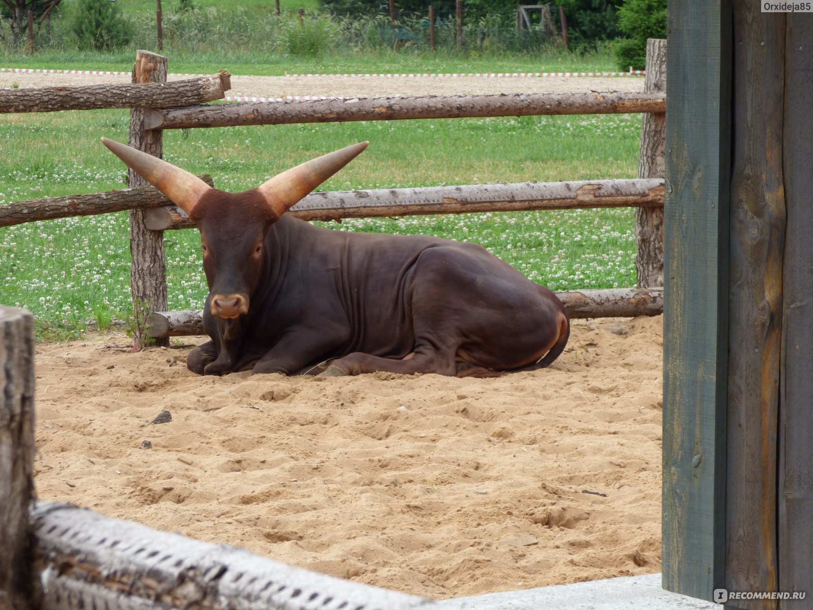
[[445, 599], [443, 608], [464, 610], [714, 610], [722, 606], [670, 593], [661, 588], [660, 574], [607, 578], [572, 585], [490, 593]]

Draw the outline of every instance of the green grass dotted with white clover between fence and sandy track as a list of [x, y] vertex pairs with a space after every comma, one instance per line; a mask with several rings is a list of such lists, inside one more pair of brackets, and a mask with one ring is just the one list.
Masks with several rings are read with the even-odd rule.
[[[245, 190], [276, 172], [370, 140], [324, 190], [494, 181], [633, 177], [640, 117], [522, 117], [376, 121], [167, 131], [164, 156]], [[124, 165], [98, 138], [126, 142], [127, 111], [5, 115], [0, 204], [124, 186]], [[478, 242], [553, 290], [633, 285], [630, 209], [346, 220], [339, 230], [428, 233]], [[197, 231], [165, 233], [172, 309], [206, 296]], [[126, 213], [0, 229], [0, 303], [37, 316], [41, 338], [76, 336], [89, 322], [131, 316]]]

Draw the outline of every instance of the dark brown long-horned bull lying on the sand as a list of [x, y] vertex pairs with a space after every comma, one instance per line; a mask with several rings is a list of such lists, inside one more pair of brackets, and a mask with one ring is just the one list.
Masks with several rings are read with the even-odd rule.
[[345, 233], [283, 216], [367, 142], [236, 194], [102, 142], [200, 227], [211, 341], [189, 353], [195, 373], [532, 370], [567, 343], [559, 298], [480, 246]]

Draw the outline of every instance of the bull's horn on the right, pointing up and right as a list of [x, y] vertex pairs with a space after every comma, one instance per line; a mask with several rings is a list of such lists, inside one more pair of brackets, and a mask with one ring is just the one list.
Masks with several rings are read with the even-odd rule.
[[317, 186], [350, 163], [369, 142], [346, 146], [316, 157], [274, 176], [257, 190], [263, 194], [276, 216], [282, 214]]

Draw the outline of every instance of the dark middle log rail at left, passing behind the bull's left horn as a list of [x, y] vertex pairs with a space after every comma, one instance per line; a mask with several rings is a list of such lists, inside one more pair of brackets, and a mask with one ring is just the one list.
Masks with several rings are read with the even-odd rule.
[[[198, 177], [208, 185], [214, 186], [211, 176]], [[134, 189], [109, 190], [106, 193], [18, 201], [0, 206], [0, 227], [71, 216], [93, 216], [123, 210], [146, 210], [171, 204], [172, 202], [152, 185], [137, 186]]]

